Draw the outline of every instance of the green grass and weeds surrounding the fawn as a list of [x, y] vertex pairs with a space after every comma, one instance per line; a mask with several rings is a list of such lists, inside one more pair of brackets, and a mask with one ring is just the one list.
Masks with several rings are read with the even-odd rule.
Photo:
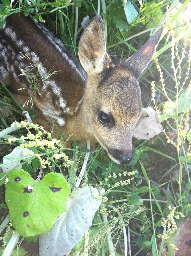
[[[140, 79], [143, 107], [151, 105], [158, 113], [162, 112], [159, 120], [163, 133], [152, 140], [133, 140], [134, 157], [127, 165], [114, 164], [99, 145], [90, 152], [86, 170], [83, 167], [85, 172], [80, 184], [98, 186], [103, 193], [102, 196], [107, 197], [107, 201], [99, 208], [84, 240], [68, 253], [71, 256], [106, 256], [109, 253], [114, 256], [127, 255], [128, 250], [134, 256], [146, 255], [148, 251], [152, 251], [153, 255], [161, 255], [165, 246], [170, 249], [170, 244], [173, 244], [169, 227], [175, 228], [176, 223], [185, 220], [191, 214], [191, 133], [187, 130], [187, 126], [190, 125], [188, 117], [191, 32], [188, 28], [189, 21], [181, 18], [181, 12], [189, 1], [182, 1], [179, 10], [176, 9], [179, 3], [176, 0], [145, 1], [142, 4], [134, 1], [133, 7], [129, 8], [132, 8], [131, 13], [134, 12], [135, 17], [128, 25], [126, 20], [130, 17], [128, 12], [124, 11], [125, 1], [60, 0], [49, 3], [33, 0], [30, 1], [30, 5], [27, 1], [18, 2], [19, 6], [14, 6], [13, 2], [10, 8], [6, 0], [2, 1], [5, 7], [3, 9], [3, 6], [0, 6], [0, 25], [5, 25], [6, 15], [19, 11], [24, 11], [25, 15], [28, 15], [32, 12], [37, 20], [46, 20], [48, 27], [60, 36], [63, 44], [76, 58], [81, 35], [80, 22], [86, 15], [92, 16], [100, 12], [104, 18], [105, 30], [107, 28], [107, 52], [115, 63], [131, 56], [147, 41], [150, 31], [153, 31], [156, 25], [163, 25], [166, 34], [164, 33], [152, 64]], [[0, 96], [0, 104], [4, 106], [1, 108], [3, 115], [0, 129], [4, 130], [13, 121], [20, 120], [22, 107], [14, 107], [14, 97], [7, 92], [4, 85], [0, 88]], [[30, 140], [23, 129], [15, 131], [12, 135], [18, 139], [23, 135], [26, 137], [25, 140]], [[3, 139], [0, 143], [1, 158], [20, 144], [19, 140]], [[61, 171], [73, 184], [75, 177], [79, 176], [87, 151], [84, 148], [80, 149], [77, 143], [73, 146], [75, 150], [72, 167], [65, 167], [63, 158], [53, 159], [53, 154], [48, 153], [44, 146], [41, 149], [36, 147], [40, 155], [39, 162], [25, 162], [22, 168], [36, 179], [40, 161], [44, 159], [47, 160], [44, 174]], [[4, 174], [0, 179], [3, 180], [3, 177]], [[3, 203], [3, 186], [0, 191]], [[3, 221], [7, 209], [0, 206], [0, 211]], [[176, 219], [178, 214], [179, 219]], [[174, 219], [175, 224], [172, 221]], [[166, 220], [166, 225], [163, 220]], [[5, 244], [5, 237], [9, 232], [10, 226], [4, 233], [2, 244]], [[25, 255], [28, 255], [30, 244], [28, 246], [26, 242], [17, 244], [15, 253], [18, 254], [15, 255], [24, 255], [21, 254], [23, 248], [26, 251]]]

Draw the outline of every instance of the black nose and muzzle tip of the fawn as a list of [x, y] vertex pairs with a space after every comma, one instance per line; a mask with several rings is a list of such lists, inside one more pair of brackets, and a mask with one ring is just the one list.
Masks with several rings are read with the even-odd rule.
[[132, 150], [118, 150], [109, 148], [109, 153], [119, 162], [119, 164], [129, 164], [133, 158]]

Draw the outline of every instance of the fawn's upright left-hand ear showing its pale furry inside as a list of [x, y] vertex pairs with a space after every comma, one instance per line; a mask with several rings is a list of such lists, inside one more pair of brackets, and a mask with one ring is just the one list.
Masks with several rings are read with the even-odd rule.
[[78, 55], [87, 73], [100, 72], [109, 58], [102, 18], [92, 18], [84, 29], [79, 42]]

